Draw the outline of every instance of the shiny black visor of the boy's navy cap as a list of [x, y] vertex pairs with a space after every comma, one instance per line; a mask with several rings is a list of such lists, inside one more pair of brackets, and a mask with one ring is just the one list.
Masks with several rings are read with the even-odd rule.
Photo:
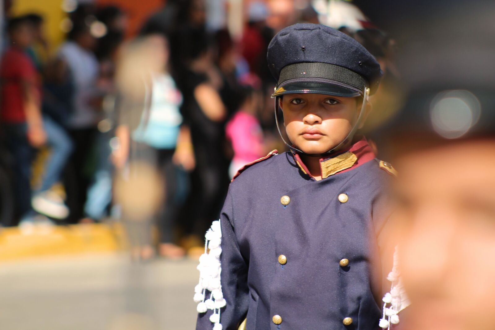
[[[325, 79], [326, 82], [315, 82], [314, 78], [311, 82], [306, 79], [293, 79], [292, 81], [286, 81], [278, 86], [275, 93], [272, 94], [272, 98], [281, 96], [284, 94], [298, 94], [298, 93], [312, 93], [312, 94], [325, 94], [341, 97], [355, 97], [362, 95], [364, 91], [358, 91], [351, 86], [345, 86], [340, 82], [330, 81]], [[323, 79], [318, 79], [323, 80]]]

